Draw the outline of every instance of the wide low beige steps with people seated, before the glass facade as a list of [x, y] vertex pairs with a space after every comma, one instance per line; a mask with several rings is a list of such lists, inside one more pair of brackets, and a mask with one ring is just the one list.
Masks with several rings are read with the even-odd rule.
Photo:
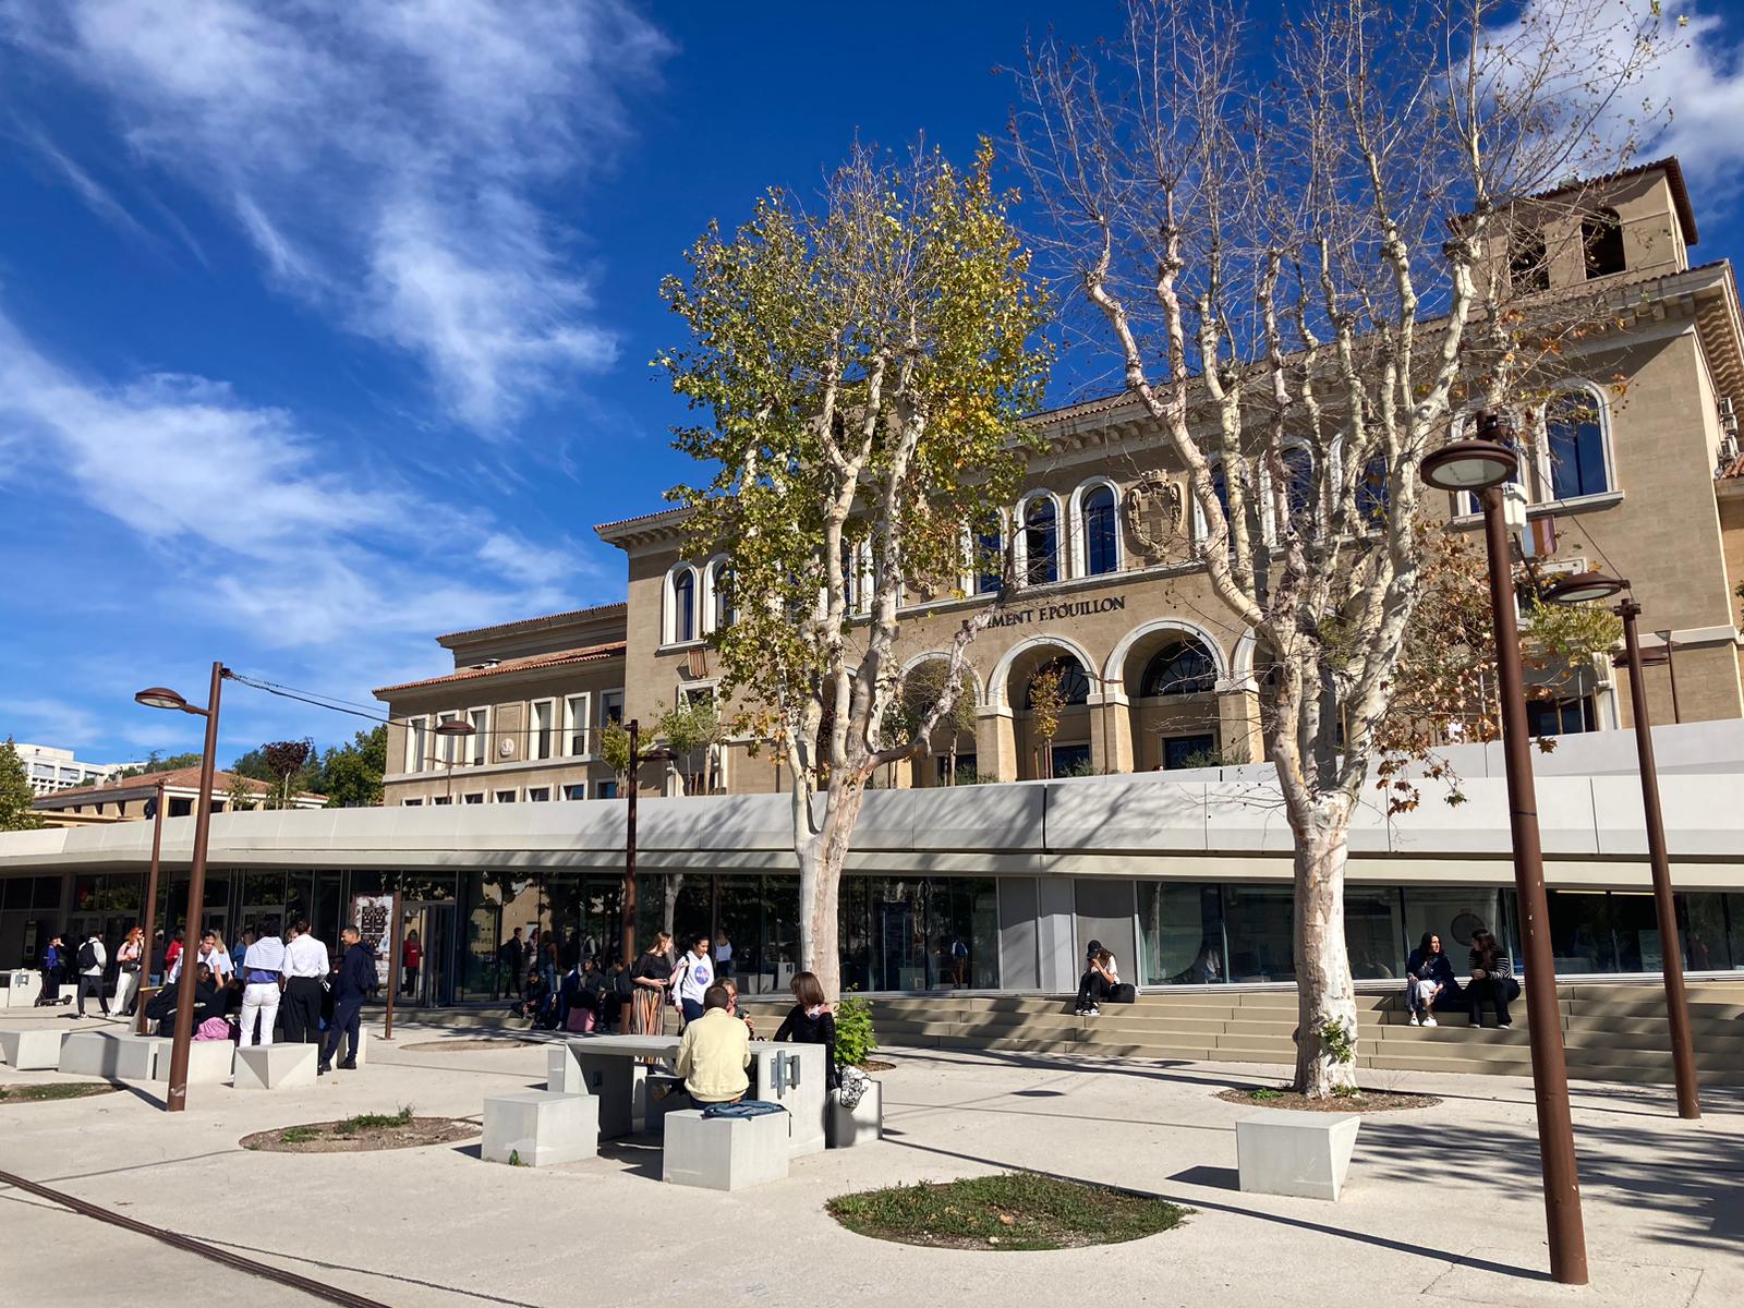
[[[790, 1006], [746, 1005], [759, 1031]], [[1526, 1006], [1514, 1027], [1477, 1031], [1465, 1013], [1437, 1027], [1407, 1022], [1402, 992], [1357, 996], [1357, 1066], [1374, 1071], [1489, 1073], [1529, 1076]], [[1659, 982], [1561, 987], [1559, 1020], [1573, 1078], [1671, 1081], [1666, 998]], [[999, 1048], [1188, 1062], [1294, 1064], [1294, 991], [1151, 992], [1135, 1005], [1104, 1005], [1100, 1017], [1073, 1015], [1069, 998], [940, 992], [874, 996], [874, 1025], [884, 1045], [909, 1048]], [[1692, 982], [1690, 1017], [1704, 1085], [1744, 1085], [1744, 980]]]

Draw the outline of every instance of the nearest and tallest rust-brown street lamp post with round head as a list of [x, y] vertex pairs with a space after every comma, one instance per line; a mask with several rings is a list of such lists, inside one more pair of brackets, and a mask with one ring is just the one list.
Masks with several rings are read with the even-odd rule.
[[1454, 441], [1423, 459], [1423, 481], [1437, 490], [1477, 494], [1484, 509], [1489, 553], [1489, 605], [1496, 631], [1496, 680], [1502, 701], [1502, 745], [1509, 773], [1509, 825], [1514, 837], [1514, 884], [1526, 952], [1526, 1012], [1531, 1039], [1533, 1092], [1538, 1100], [1538, 1162], [1550, 1243], [1550, 1277], [1564, 1285], [1587, 1284], [1587, 1236], [1580, 1217], [1580, 1172], [1575, 1163], [1575, 1123], [1568, 1106], [1568, 1053], [1556, 999], [1556, 957], [1550, 950], [1549, 900], [1543, 889], [1543, 849], [1538, 842], [1538, 797], [1533, 785], [1526, 727], [1526, 677], [1514, 612], [1514, 563], [1502, 518], [1502, 487], [1519, 467], [1507, 419], [1498, 410], [1477, 417], [1479, 439]]

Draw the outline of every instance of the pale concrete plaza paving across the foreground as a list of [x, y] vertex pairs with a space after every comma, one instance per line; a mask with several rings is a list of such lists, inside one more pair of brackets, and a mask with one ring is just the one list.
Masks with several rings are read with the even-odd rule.
[[[1250, 1064], [888, 1052], [886, 1141], [795, 1158], [785, 1182], [736, 1195], [661, 1184], [659, 1155], [637, 1142], [541, 1170], [485, 1165], [476, 1141], [366, 1155], [237, 1148], [255, 1130], [408, 1102], [476, 1116], [488, 1093], [544, 1083], [541, 1048], [441, 1048], [480, 1034], [401, 1027], [363, 1071], [272, 1093], [194, 1087], [180, 1116], [157, 1109], [160, 1087], [0, 1107], [0, 1168], [389, 1305], [1744, 1303], [1735, 1090], [1706, 1092], [1707, 1116], [1692, 1125], [1666, 1088], [1577, 1085], [1589, 1289], [1545, 1277], [1529, 1087], [1505, 1078], [1373, 1081], [1444, 1102], [1366, 1120], [1336, 1205], [1236, 1189], [1247, 1109], [1212, 1093], [1282, 1076]], [[438, 1048], [406, 1048], [426, 1043]], [[1130, 1186], [1196, 1214], [1127, 1245], [992, 1254], [874, 1242], [823, 1212], [849, 1189], [1008, 1167]], [[310, 1303], [31, 1196], [0, 1198], [0, 1285], [52, 1280], [72, 1305]]]

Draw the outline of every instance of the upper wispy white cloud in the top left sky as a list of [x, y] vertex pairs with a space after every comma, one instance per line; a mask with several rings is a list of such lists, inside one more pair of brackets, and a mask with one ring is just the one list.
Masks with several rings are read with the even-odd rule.
[[539, 195], [612, 155], [664, 52], [621, 0], [75, 0], [0, 21], [234, 213], [281, 286], [422, 359], [474, 429], [616, 358]]

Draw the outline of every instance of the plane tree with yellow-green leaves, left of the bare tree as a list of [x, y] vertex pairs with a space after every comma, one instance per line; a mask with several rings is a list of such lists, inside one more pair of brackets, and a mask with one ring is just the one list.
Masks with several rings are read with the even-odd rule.
[[964, 530], [996, 530], [1039, 441], [1022, 417], [1043, 394], [1048, 303], [991, 174], [985, 143], [970, 171], [856, 148], [821, 213], [769, 192], [663, 286], [692, 344], [659, 363], [703, 415], [677, 446], [710, 469], [670, 497], [696, 553], [731, 560], [720, 692], [788, 764], [800, 954], [832, 996], [867, 783], [924, 748], [992, 616], [957, 631], [924, 731], [888, 741], [898, 609], [957, 589]]

